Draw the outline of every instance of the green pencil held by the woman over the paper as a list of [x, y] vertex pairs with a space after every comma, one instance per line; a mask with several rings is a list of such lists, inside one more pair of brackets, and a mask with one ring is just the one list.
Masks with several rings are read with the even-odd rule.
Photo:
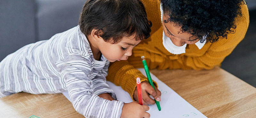
[[[148, 65], [147, 65], [147, 62], [146, 62], [144, 56], [141, 56], [141, 59], [142, 59], [142, 63], [143, 63], [144, 69], [146, 71], [146, 75], [148, 77], [148, 82], [155, 89], [153, 81], [152, 81], [152, 78], [151, 78], [149, 70], [148, 70]], [[161, 107], [160, 107], [159, 101], [156, 101], [156, 99], [155, 99], [155, 102], [156, 102], [156, 106], [157, 106], [158, 110], [161, 111]]]

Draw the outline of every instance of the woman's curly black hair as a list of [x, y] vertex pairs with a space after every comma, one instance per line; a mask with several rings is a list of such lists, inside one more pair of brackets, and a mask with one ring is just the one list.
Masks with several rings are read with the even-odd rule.
[[[244, 0], [161, 0], [168, 21], [181, 26], [182, 32], [215, 42], [235, 33], [235, 18], [242, 16]], [[167, 21], [167, 22], [168, 22]], [[205, 39], [201, 39], [204, 42]]]

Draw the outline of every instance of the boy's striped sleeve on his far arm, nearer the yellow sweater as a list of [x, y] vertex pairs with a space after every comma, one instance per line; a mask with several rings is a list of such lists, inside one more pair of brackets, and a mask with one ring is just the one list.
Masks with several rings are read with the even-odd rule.
[[103, 69], [92, 79], [92, 90], [94, 94], [100, 95], [102, 93], [109, 93], [115, 100], [116, 95], [115, 92], [110, 89], [109, 85], [106, 81], [106, 76], [108, 75], [108, 66], [109, 61], [105, 64]]

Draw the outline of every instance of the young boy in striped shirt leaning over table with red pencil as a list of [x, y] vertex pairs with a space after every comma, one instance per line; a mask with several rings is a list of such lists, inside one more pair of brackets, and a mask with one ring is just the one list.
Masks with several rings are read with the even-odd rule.
[[109, 62], [127, 60], [150, 27], [139, 0], [87, 0], [78, 26], [26, 45], [0, 63], [0, 97], [68, 91], [86, 117], [148, 118], [148, 106], [114, 100], [105, 77]]

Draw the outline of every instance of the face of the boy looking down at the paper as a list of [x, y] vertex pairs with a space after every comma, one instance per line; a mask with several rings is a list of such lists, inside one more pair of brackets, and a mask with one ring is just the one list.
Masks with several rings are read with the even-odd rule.
[[132, 55], [132, 49], [140, 43], [136, 41], [134, 36], [123, 37], [119, 43], [112, 44], [111, 42], [100, 41], [99, 49], [109, 62], [127, 60], [128, 56]]

